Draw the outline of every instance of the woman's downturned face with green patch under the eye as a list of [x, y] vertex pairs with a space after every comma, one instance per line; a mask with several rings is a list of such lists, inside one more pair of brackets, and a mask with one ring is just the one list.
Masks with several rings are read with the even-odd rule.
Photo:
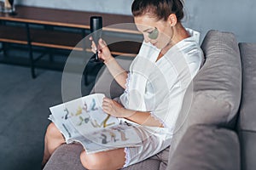
[[171, 42], [172, 26], [168, 21], [155, 20], [145, 14], [134, 18], [138, 31], [143, 33], [145, 42], [152, 43], [156, 48], [165, 48]]

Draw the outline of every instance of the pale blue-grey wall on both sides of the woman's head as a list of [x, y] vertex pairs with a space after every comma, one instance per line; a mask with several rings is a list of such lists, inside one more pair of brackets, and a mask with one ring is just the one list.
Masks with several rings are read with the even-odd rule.
[[[131, 14], [133, 0], [16, 0], [30, 6]], [[201, 31], [232, 31], [239, 42], [256, 42], [255, 0], [184, 0], [184, 26]], [[75, 3], [74, 3], [75, 2]]]

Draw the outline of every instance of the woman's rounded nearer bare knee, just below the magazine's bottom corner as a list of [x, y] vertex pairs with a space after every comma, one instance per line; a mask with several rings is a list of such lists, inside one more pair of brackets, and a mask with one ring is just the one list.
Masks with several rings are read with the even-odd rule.
[[85, 151], [81, 153], [80, 161], [86, 169], [102, 169], [102, 167], [108, 167], [105, 161], [97, 156], [97, 154], [88, 155]]

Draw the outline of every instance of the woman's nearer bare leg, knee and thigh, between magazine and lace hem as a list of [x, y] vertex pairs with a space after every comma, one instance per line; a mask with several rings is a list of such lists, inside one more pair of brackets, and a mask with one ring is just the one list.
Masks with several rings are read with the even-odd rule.
[[95, 154], [86, 154], [84, 150], [80, 155], [80, 160], [86, 169], [120, 169], [125, 165], [125, 149], [120, 148]]

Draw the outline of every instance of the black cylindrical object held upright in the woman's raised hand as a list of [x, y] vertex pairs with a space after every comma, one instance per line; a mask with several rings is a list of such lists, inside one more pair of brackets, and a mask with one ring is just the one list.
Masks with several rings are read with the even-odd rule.
[[[99, 39], [102, 37], [102, 17], [101, 16], [91, 16], [90, 17], [90, 33], [93, 41], [98, 47]], [[98, 49], [96, 49], [96, 54], [94, 54], [95, 61], [99, 61]]]

